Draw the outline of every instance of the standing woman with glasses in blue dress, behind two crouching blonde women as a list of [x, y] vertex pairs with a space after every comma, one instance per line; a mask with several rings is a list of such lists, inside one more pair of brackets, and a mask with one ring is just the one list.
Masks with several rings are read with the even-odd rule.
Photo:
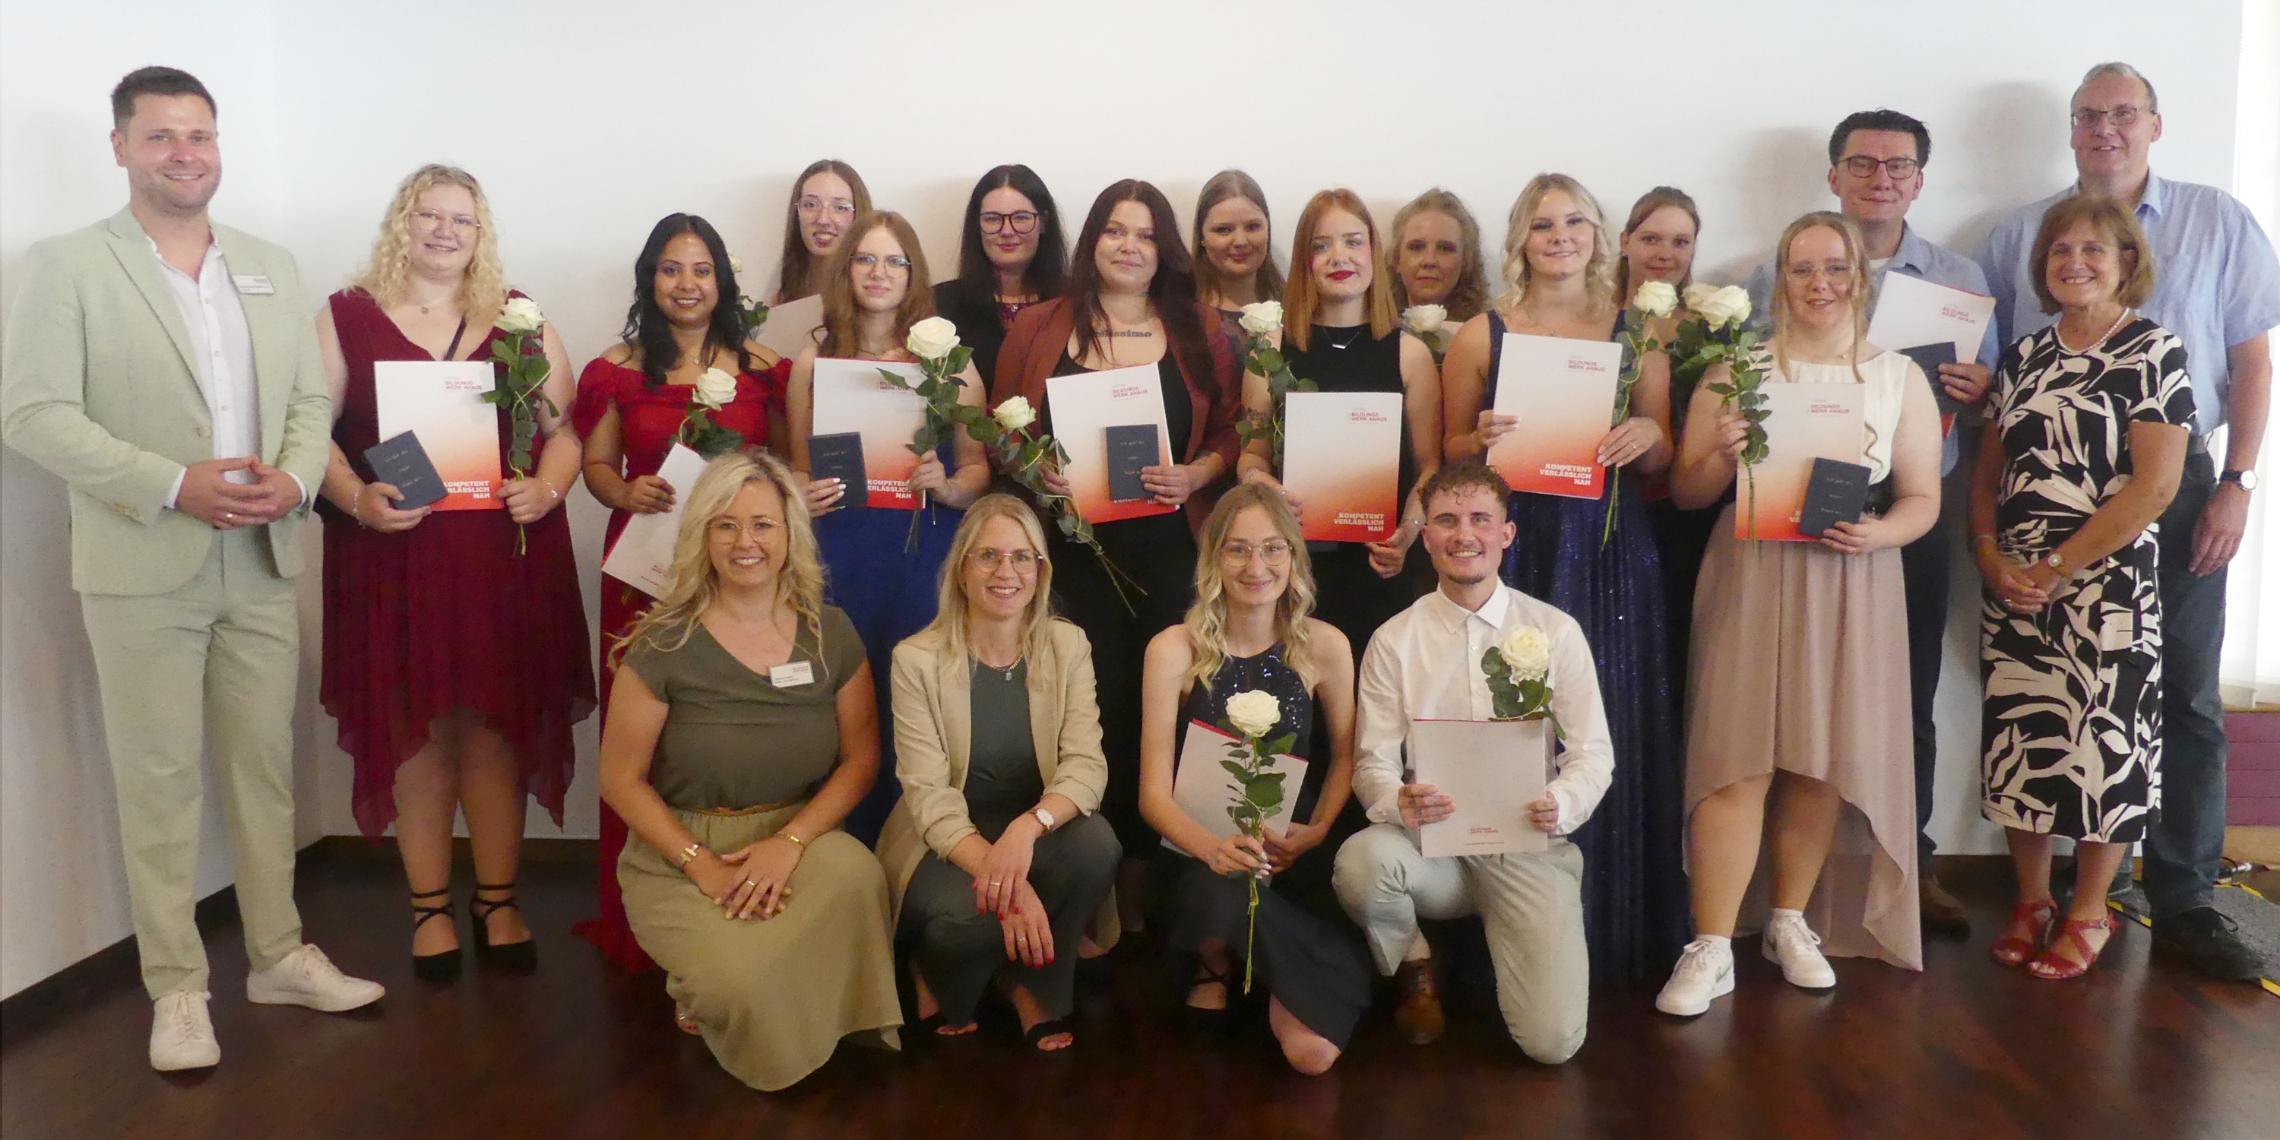
[[[942, 559], [951, 552], [962, 511], [990, 490], [990, 463], [983, 445], [964, 429], [919, 461], [910, 486], [923, 492], [926, 506], [919, 508], [914, 543], [907, 511], [844, 506], [846, 488], [837, 479], [809, 479], [807, 438], [816, 424], [816, 358], [912, 363], [917, 358], [903, 342], [912, 324], [933, 315], [935, 292], [926, 276], [919, 235], [903, 214], [864, 214], [832, 255], [823, 283], [823, 326], [816, 328], [816, 342], [791, 360], [791, 383], [784, 392], [791, 465], [807, 481], [825, 600], [846, 611], [871, 657], [880, 741], [894, 741], [894, 711], [887, 702], [889, 654], [896, 643], [935, 620]], [[960, 378], [964, 381], [960, 401], [980, 406], [983, 381], [974, 367]], [[891, 743], [880, 755], [880, 780], [846, 819], [846, 830], [864, 844], [878, 841], [878, 830], [901, 793], [903, 784], [889, 775], [894, 775]]]

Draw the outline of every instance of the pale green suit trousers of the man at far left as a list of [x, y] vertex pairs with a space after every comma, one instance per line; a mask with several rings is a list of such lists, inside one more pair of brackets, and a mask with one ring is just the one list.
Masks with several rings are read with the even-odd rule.
[[262, 527], [221, 531], [198, 575], [162, 595], [80, 597], [119, 784], [119, 841], [144, 990], [207, 990], [194, 917], [207, 741], [253, 969], [301, 944], [292, 901], [292, 714], [301, 618]]

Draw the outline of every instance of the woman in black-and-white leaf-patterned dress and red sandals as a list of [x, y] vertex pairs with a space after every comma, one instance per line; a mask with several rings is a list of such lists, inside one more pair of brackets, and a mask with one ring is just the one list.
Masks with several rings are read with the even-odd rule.
[[[2193, 390], [2184, 344], [2132, 312], [2152, 294], [2152, 249], [2127, 207], [2052, 205], [2031, 264], [2059, 321], [2004, 351], [1972, 486], [1981, 814], [2018, 871], [1995, 960], [2075, 978], [2114, 937], [2104, 885], [2161, 803], [2155, 520], [2184, 472]], [[2077, 841], [2077, 889], [2054, 928], [2061, 834]]]

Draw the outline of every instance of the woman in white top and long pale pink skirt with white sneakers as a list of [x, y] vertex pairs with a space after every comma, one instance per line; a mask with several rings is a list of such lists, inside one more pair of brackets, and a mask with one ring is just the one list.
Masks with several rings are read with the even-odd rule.
[[[1938, 408], [1913, 360], [1863, 340], [1867, 255], [1851, 221], [1817, 212], [1790, 223], [1774, 274], [1774, 335], [1758, 367], [1767, 385], [1863, 388], [1870, 508], [1817, 543], [1737, 540], [1733, 506], [1712, 529], [1687, 673], [1696, 937], [1655, 999], [1680, 1017], [1733, 992], [1744, 896], [1746, 926], [1762, 926], [1762, 953], [1790, 985], [1835, 987], [1824, 935], [1826, 953], [1922, 969], [1908, 654], [1892, 645], [1908, 641], [1899, 547], [1940, 513]], [[1746, 422], [1712, 392], [1728, 378], [1715, 365], [1694, 390], [1671, 479], [1683, 508], [1735, 486]]]

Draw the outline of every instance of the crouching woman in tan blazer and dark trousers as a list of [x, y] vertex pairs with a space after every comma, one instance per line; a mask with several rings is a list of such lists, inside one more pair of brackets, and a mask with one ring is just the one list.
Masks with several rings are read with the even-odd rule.
[[[1076, 1044], [1076, 944], [1108, 905], [1122, 846], [1094, 812], [1108, 784], [1092, 645], [1049, 613], [1044, 531], [1012, 495], [951, 538], [935, 622], [894, 648], [903, 798], [880, 864], [914, 944], [921, 1026], [958, 1037], [992, 978], [1044, 1053]], [[1115, 942], [1113, 919], [1097, 942]]]

